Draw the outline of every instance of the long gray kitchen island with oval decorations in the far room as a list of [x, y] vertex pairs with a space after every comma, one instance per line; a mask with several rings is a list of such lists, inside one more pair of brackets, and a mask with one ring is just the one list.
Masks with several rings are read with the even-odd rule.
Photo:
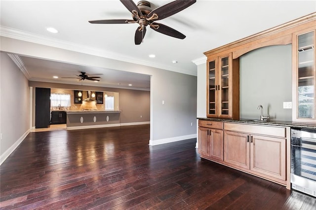
[[67, 130], [120, 126], [119, 110], [67, 110]]

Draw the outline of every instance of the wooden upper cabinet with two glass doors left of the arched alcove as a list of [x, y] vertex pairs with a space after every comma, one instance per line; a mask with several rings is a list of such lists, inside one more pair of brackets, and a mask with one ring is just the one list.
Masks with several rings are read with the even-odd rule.
[[239, 119], [239, 58], [232, 53], [207, 59], [207, 117]]

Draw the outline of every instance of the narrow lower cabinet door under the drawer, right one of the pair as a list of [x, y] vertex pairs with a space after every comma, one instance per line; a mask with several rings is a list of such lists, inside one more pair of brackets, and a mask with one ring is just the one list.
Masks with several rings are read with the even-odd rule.
[[210, 157], [212, 159], [224, 160], [223, 131], [211, 129], [210, 136]]

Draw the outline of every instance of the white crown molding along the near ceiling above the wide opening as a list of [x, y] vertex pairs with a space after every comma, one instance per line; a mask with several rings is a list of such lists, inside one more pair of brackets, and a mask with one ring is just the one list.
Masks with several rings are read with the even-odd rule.
[[33, 42], [33, 43], [42, 44], [46, 46], [61, 48], [65, 50], [80, 52], [80, 53], [94, 55], [94, 56], [99, 56], [103, 58], [108, 58], [108, 59], [113, 59], [113, 60], [133, 63], [133, 64], [139, 64], [139, 65], [149, 66], [149, 67], [163, 69], [163, 70], [170, 70], [170, 71], [175, 71], [175, 72], [194, 75], [194, 76], [197, 75], [196, 70], [184, 70], [184, 69], [172, 68], [166, 65], [158, 65], [155, 63], [146, 62], [146, 61], [135, 59], [135, 58], [128, 57], [125, 55], [109, 52], [103, 49], [89, 47], [86, 45], [82, 45], [82, 44], [78, 44], [78, 43], [74, 43], [70, 41], [49, 38], [42, 35], [32, 34], [25, 31], [5, 27], [5, 26], [0, 26], [0, 35], [4, 37], [8, 37], [8, 38], [19, 39], [23, 41], [28, 41], [28, 42]]

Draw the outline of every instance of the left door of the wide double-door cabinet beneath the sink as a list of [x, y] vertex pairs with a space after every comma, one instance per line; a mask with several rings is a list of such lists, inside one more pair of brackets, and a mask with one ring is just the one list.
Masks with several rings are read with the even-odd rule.
[[249, 135], [237, 132], [224, 132], [224, 161], [237, 168], [250, 168]]

